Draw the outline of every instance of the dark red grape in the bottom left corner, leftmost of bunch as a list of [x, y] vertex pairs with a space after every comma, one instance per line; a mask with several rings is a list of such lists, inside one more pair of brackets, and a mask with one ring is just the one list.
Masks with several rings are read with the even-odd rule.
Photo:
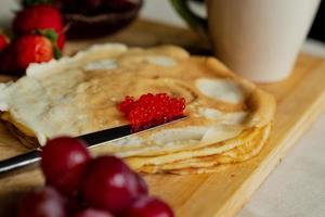
[[66, 201], [53, 188], [27, 194], [22, 201], [18, 217], [67, 217]]

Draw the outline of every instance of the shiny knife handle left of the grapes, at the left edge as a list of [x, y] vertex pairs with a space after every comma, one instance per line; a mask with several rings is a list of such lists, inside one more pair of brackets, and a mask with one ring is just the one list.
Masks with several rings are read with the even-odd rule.
[[31, 151], [0, 162], [0, 174], [18, 169], [40, 161], [40, 152]]

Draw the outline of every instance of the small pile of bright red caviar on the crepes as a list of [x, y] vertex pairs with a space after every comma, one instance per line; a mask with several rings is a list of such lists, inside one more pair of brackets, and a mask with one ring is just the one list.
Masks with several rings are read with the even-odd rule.
[[167, 93], [146, 93], [141, 95], [139, 100], [127, 95], [118, 104], [118, 110], [131, 123], [133, 131], [181, 117], [183, 116], [184, 108], [184, 98], [174, 98]]

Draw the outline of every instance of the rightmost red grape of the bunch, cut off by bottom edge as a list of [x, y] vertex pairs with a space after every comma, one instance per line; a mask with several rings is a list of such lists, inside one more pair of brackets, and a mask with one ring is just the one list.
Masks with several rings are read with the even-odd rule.
[[126, 217], [173, 217], [173, 213], [159, 199], [142, 196], [132, 203]]

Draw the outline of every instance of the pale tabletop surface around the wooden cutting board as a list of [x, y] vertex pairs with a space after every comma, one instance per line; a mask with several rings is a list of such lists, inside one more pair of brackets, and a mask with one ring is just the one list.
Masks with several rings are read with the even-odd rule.
[[[15, 0], [0, 0], [0, 26], [12, 18]], [[185, 26], [168, 0], [146, 0], [141, 16]], [[325, 58], [325, 44], [308, 40], [302, 50]], [[325, 72], [324, 72], [325, 73]], [[323, 85], [325, 88], [324, 84]], [[325, 216], [325, 113], [269, 176], [239, 217]]]

